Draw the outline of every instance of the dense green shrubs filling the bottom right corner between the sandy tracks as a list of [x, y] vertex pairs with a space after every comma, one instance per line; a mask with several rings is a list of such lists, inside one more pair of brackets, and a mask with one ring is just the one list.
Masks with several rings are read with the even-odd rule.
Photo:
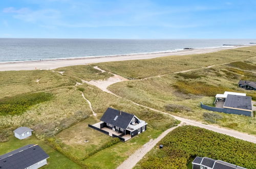
[[185, 125], [166, 135], [135, 168], [187, 168], [189, 159], [199, 156], [252, 169], [255, 153], [254, 143]]

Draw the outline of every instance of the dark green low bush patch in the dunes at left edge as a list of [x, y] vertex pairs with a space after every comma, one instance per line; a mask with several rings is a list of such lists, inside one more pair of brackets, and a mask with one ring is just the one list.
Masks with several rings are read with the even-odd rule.
[[32, 105], [49, 101], [53, 97], [51, 93], [38, 92], [20, 94], [0, 99], [0, 115], [16, 115], [28, 110]]

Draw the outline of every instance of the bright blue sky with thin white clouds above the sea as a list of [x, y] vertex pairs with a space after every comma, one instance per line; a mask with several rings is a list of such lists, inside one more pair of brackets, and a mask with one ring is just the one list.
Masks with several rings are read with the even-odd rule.
[[0, 0], [0, 37], [256, 38], [256, 1]]

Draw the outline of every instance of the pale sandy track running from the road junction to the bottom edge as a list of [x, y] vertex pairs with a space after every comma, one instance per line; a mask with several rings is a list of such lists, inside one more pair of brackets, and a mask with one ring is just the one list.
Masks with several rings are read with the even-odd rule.
[[134, 152], [128, 159], [123, 161], [121, 165], [117, 167], [117, 169], [129, 169], [133, 168], [137, 162], [139, 162], [147, 152], [149, 152], [151, 149], [154, 148], [154, 146], [162, 139], [164, 138], [170, 131], [173, 131], [174, 129], [178, 128], [178, 126], [183, 125], [183, 123], [180, 123], [179, 125], [170, 128], [166, 131], [164, 131], [160, 136], [158, 136], [156, 139], [151, 139], [147, 143], [145, 143], [140, 149], [138, 149], [136, 152]]

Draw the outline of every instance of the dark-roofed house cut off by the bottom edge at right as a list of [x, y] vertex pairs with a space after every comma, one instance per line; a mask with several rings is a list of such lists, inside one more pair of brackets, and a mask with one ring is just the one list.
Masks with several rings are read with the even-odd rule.
[[193, 169], [246, 169], [238, 165], [221, 160], [214, 160], [208, 157], [196, 157], [192, 164]]

